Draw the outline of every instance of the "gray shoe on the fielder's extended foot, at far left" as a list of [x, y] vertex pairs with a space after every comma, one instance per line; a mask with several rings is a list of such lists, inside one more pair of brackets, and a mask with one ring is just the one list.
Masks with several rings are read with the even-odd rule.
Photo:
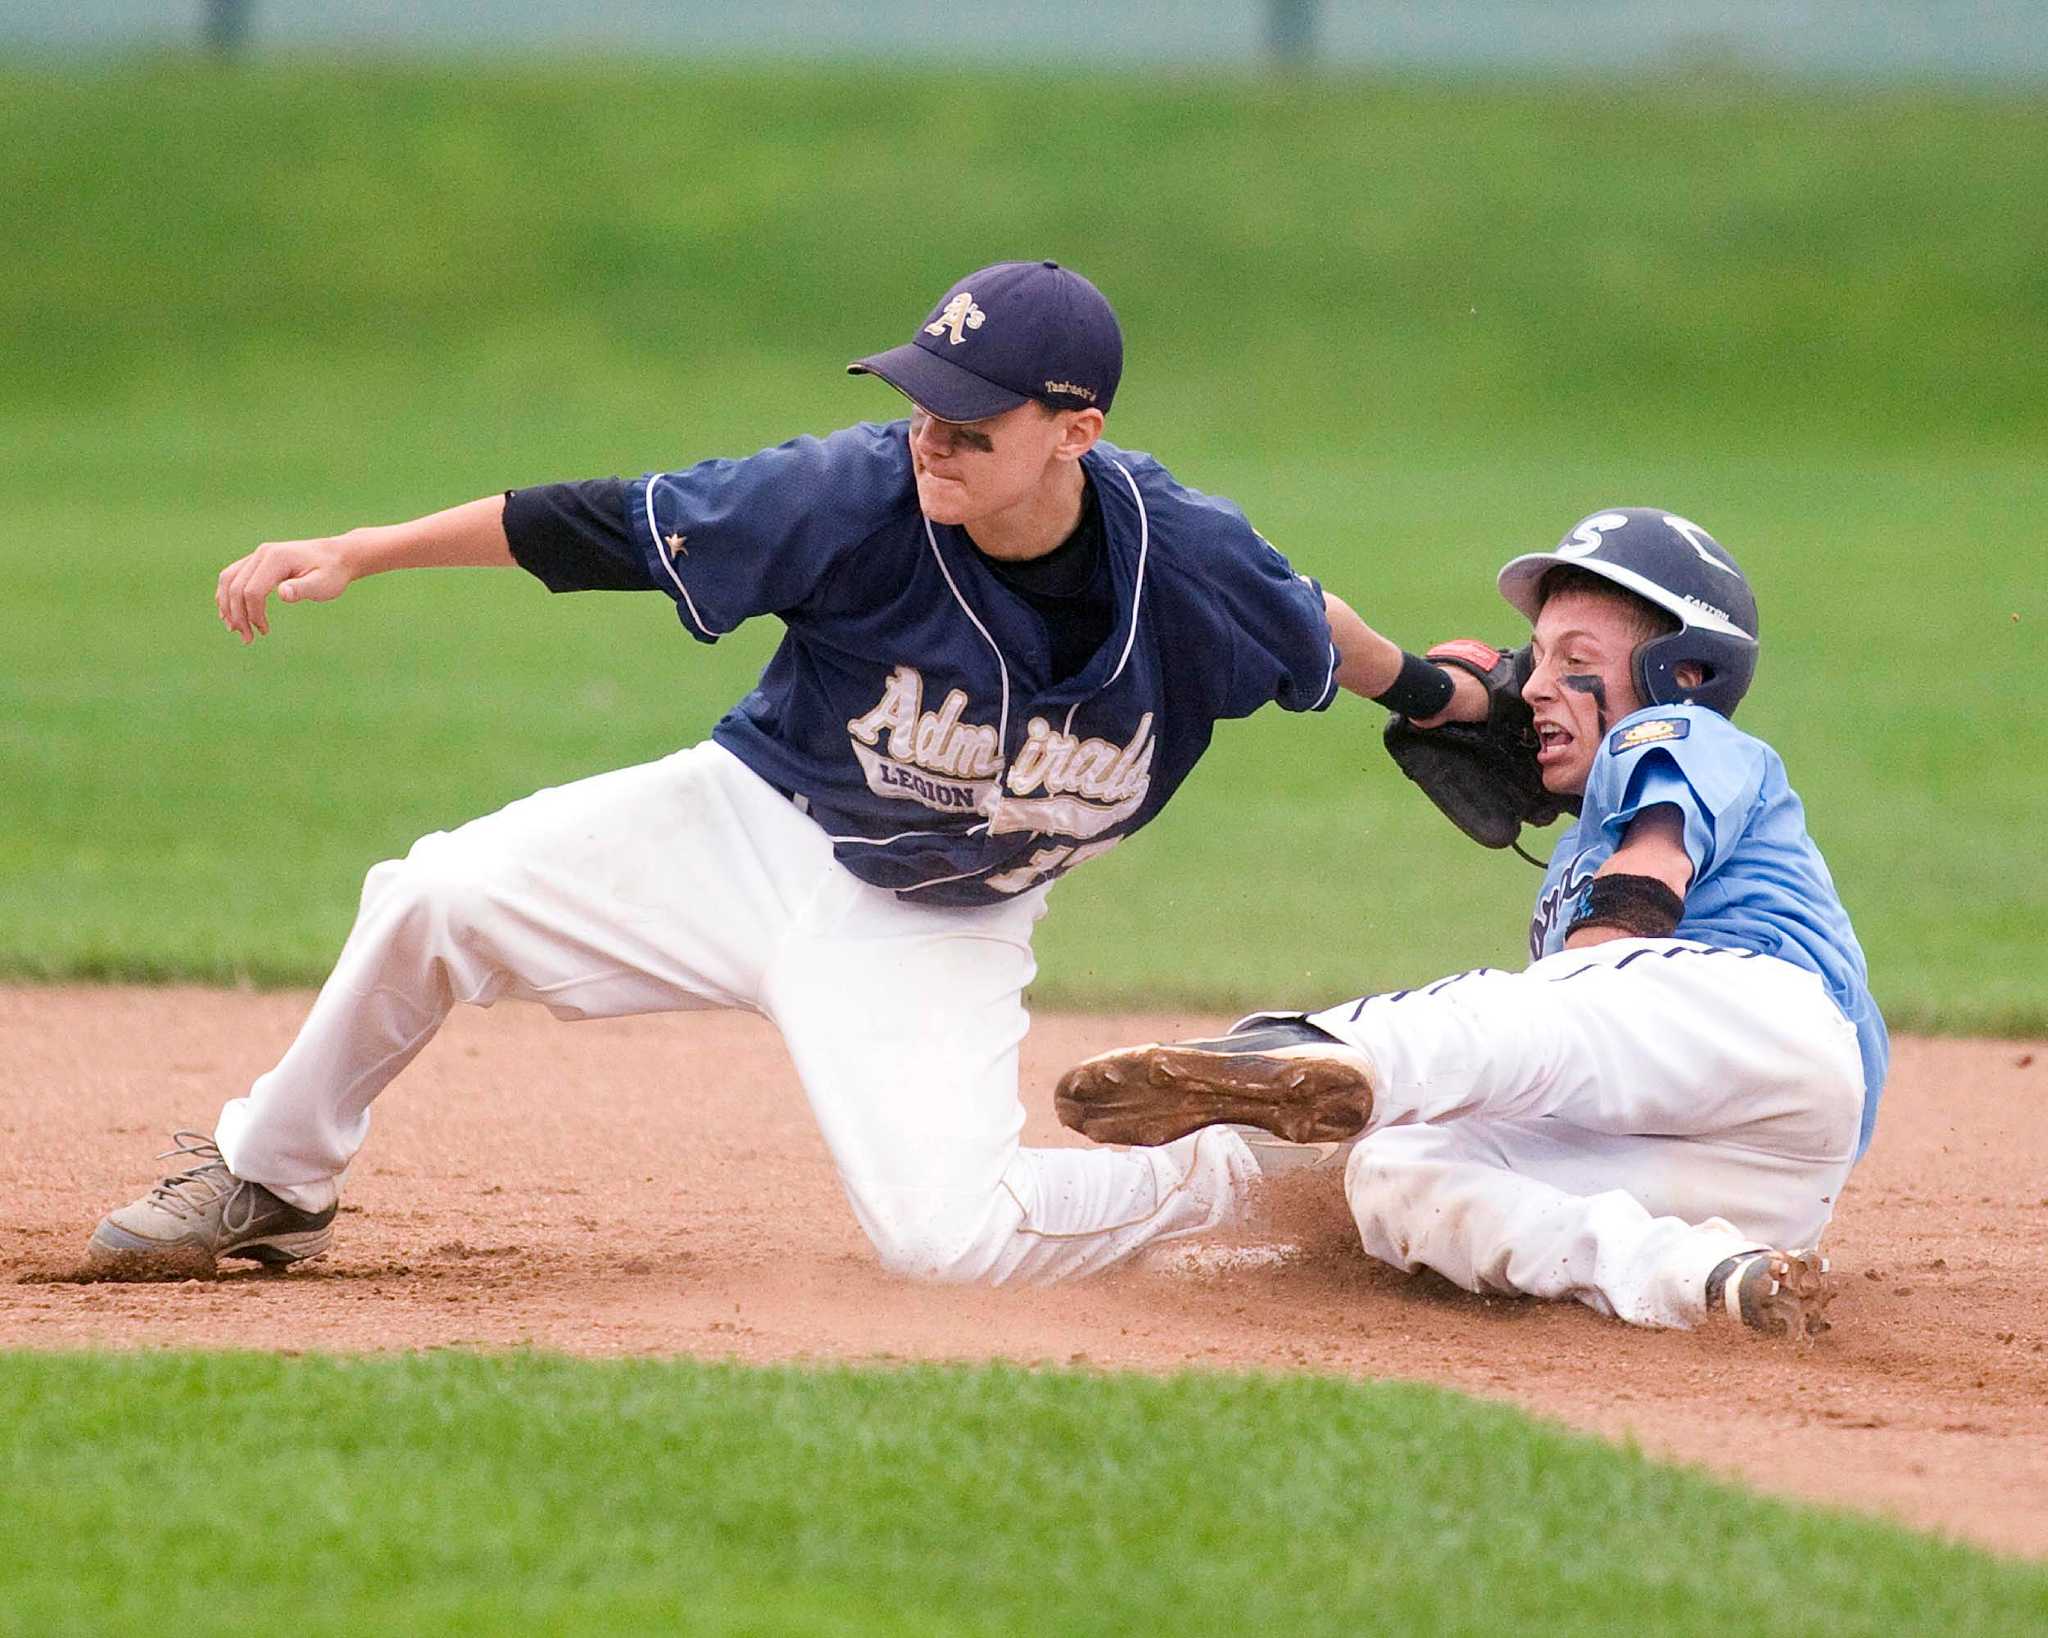
[[334, 1239], [334, 1206], [301, 1212], [262, 1183], [236, 1177], [205, 1132], [172, 1132], [158, 1159], [190, 1155], [190, 1171], [174, 1171], [141, 1200], [109, 1212], [92, 1231], [92, 1261], [104, 1265], [211, 1267], [215, 1257], [258, 1263], [303, 1263]]

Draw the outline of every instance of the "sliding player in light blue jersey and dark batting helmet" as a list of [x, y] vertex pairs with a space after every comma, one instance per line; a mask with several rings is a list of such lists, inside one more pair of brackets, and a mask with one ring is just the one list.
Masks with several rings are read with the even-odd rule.
[[1534, 624], [1516, 674], [1542, 788], [1577, 813], [1532, 964], [1106, 1052], [1061, 1081], [1061, 1116], [1112, 1143], [1362, 1132], [1346, 1196], [1399, 1269], [1806, 1337], [1888, 1046], [1784, 764], [1729, 721], [1755, 598], [1657, 508], [1595, 512], [1499, 586]]

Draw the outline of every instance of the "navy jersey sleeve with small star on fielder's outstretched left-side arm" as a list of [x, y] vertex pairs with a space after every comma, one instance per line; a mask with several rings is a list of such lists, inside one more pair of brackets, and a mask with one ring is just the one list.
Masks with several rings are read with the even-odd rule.
[[684, 629], [715, 643], [756, 614], [801, 608], [909, 489], [891, 432], [856, 426], [629, 481], [627, 532]]

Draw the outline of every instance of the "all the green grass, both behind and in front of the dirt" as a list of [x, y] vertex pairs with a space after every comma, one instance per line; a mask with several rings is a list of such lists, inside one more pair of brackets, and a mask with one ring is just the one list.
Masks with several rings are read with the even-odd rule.
[[[0, 975], [311, 983], [362, 870], [698, 739], [774, 631], [256, 541], [895, 414], [963, 268], [1118, 303], [1112, 436], [1413, 645], [1657, 502], [1761, 588], [1894, 1026], [2048, 1032], [2048, 141], [2023, 96], [176, 59], [0, 70]], [[1075, 111], [1085, 111], [1075, 113]], [[1040, 1003], [1513, 960], [1376, 713], [1227, 729]], [[2021, 1632], [2038, 1568], [1403, 1386], [0, 1355], [0, 1634]]]

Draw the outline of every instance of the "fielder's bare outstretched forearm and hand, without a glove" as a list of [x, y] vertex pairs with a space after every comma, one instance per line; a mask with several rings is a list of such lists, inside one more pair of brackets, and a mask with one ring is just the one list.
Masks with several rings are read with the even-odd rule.
[[238, 557], [213, 590], [213, 606], [244, 643], [270, 635], [268, 602], [332, 602], [362, 575], [387, 569], [516, 567], [504, 528], [506, 498], [485, 495], [403, 524], [375, 524], [315, 541], [264, 541]]

